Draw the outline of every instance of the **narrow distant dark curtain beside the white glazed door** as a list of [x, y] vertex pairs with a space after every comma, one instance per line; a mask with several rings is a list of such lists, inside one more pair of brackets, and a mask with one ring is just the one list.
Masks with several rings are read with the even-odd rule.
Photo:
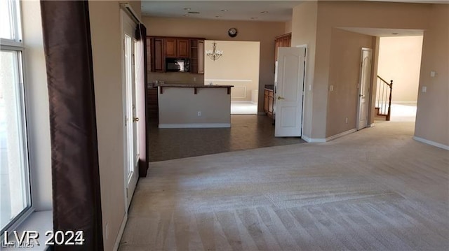
[[[142, 71], [143, 73], [143, 79], [142, 78], [137, 78], [138, 79], [138, 83], [136, 83], [138, 85], [138, 95], [140, 97], [139, 103], [138, 103], [138, 107], [144, 108], [144, 109], [140, 109], [140, 113], [139, 113], [139, 117], [140, 118], [145, 118], [145, 119], [141, 119], [139, 121], [140, 124], [140, 131], [138, 131], [138, 137], [139, 137], [139, 152], [140, 152], [140, 157], [139, 157], [139, 177], [145, 177], [147, 176], [147, 171], [148, 171], [148, 164], [149, 164], [149, 142], [148, 142], [148, 135], [147, 135], [147, 131], [148, 131], [148, 123], [146, 118], [149, 117], [148, 116], [148, 109], [147, 109], [147, 92], [148, 92], [148, 76], [147, 76], [147, 28], [145, 27], [144, 24], [138, 24], [138, 27], [135, 31], [135, 37], [138, 39], [139, 41], [139, 46], [142, 46], [142, 52], [143, 52], [143, 67], [140, 67], [140, 71]], [[138, 64], [139, 65], [139, 64]], [[145, 142], [145, 145], [143, 145], [143, 142]]]

